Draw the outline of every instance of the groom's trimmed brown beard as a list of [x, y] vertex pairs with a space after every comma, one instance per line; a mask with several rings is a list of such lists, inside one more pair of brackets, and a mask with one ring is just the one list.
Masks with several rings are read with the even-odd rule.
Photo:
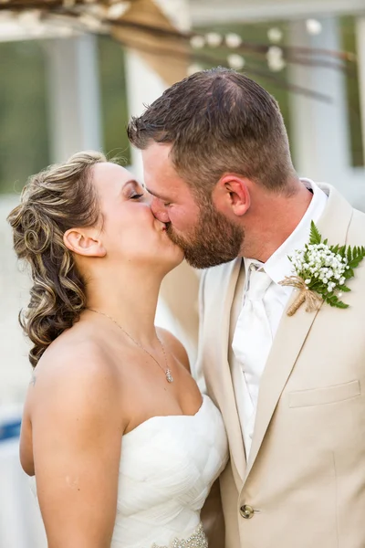
[[187, 262], [194, 269], [208, 269], [238, 257], [244, 229], [229, 221], [211, 203], [205, 202], [200, 211], [198, 224], [190, 236], [176, 234], [172, 224], [167, 225], [167, 234], [183, 248]]

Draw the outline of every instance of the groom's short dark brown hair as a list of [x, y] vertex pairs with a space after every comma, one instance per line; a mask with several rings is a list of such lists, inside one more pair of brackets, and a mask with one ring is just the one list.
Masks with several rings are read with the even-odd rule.
[[199, 194], [224, 173], [283, 191], [294, 174], [287, 130], [276, 100], [228, 68], [196, 72], [173, 84], [128, 126], [130, 142], [171, 143], [172, 163]]

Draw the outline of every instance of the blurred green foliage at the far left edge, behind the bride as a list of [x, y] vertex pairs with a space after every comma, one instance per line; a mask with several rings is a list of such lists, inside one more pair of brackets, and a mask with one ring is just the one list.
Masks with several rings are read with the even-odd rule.
[[36, 41], [0, 43], [0, 192], [49, 162], [45, 58]]

